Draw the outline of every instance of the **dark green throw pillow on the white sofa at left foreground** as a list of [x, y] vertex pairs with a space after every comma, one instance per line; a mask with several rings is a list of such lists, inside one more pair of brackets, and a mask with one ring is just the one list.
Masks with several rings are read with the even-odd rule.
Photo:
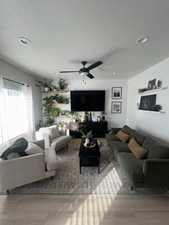
[[8, 155], [11, 153], [18, 153], [20, 156], [27, 155], [25, 149], [28, 146], [28, 142], [25, 138], [19, 138], [9, 148], [7, 148], [1, 155], [1, 158], [8, 160]]

